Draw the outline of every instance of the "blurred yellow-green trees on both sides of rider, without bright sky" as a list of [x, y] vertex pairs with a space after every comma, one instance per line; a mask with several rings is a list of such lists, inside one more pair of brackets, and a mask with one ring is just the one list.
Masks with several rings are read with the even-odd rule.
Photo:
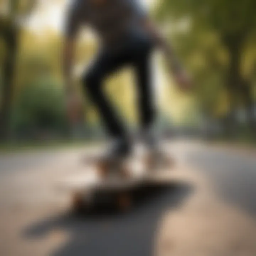
[[[59, 2], [64, 4], [62, 0]], [[62, 133], [67, 127], [60, 31], [48, 28], [36, 33], [23, 26], [36, 4], [36, 0], [0, 0], [0, 7], [5, 10], [0, 14], [0, 139], [10, 137], [10, 130], [36, 136], [43, 130]], [[167, 85], [170, 81], [165, 73], [155, 81], [161, 90], [159, 101], [164, 112], [160, 115], [161, 126], [198, 122], [200, 118], [195, 109], [199, 105], [205, 119], [223, 122], [227, 129], [235, 127], [232, 114], [243, 108], [249, 124], [255, 127], [252, 118], [256, 98], [254, 10], [254, 0], [159, 2], [158, 18], [196, 84], [195, 97], [186, 98]], [[81, 35], [74, 73], [75, 86], [82, 96], [80, 74], [96, 50], [96, 42]], [[156, 66], [155, 71], [159, 73]], [[137, 122], [137, 102], [135, 86], [130, 84], [133, 84], [132, 74], [124, 70], [106, 81], [105, 89], [119, 113], [133, 126]], [[86, 92], [84, 106], [85, 125], [95, 131], [100, 127], [97, 111]]]

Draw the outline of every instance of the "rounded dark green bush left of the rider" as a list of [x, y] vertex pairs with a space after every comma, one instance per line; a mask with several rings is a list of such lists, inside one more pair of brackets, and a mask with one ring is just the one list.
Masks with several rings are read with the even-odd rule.
[[62, 130], [66, 126], [62, 88], [51, 79], [23, 87], [16, 100], [13, 126], [25, 134]]

